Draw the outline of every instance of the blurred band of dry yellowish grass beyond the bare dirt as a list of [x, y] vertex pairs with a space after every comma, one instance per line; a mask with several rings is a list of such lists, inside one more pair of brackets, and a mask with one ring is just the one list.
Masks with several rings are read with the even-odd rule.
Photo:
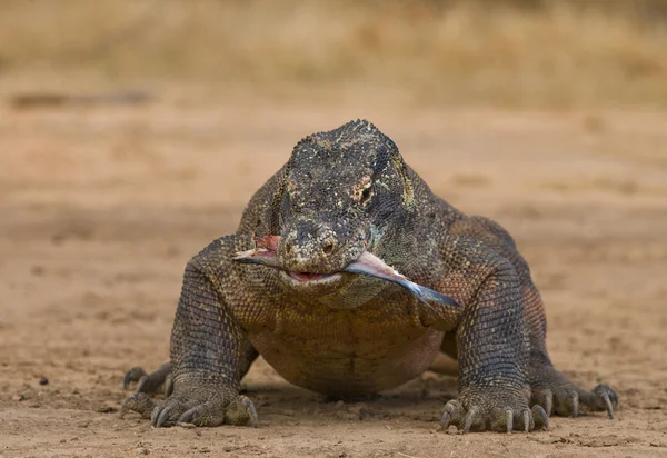
[[663, 107], [666, 50], [665, 0], [0, 4], [0, 81], [20, 89], [160, 83], [309, 100]]

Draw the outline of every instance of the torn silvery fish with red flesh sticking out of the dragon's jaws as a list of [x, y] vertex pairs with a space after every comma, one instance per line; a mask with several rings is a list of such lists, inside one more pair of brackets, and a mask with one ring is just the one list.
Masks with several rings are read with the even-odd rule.
[[[278, 243], [280, 242], [280, 236], [265, 236], [255, 238], [255, 249], [248, 251], [239, 251], [232, 258], [233, 261], [242, 263], [258, 263], [276, 269], [282, 269], [280, 261], [278, 260], [277, 251]], [[390, 281], [396, 285], [400, 285], [406, 288], [418, 301], [425, 306], [432, 308], [428, 301], [441, 303], [444, 306], [458, 307], [458, 303], [448, 296], [441, 295], [438, 291], [434, 291], [430, 288], [417, 285], [414, 281], [408, 280], [402, 275], [398, 273], [391, 267], [387, 266], [377, 256], [364, 251], [359, 259], [350, 262], [345, 269], [345, 272], [360, 273], [368, 277], [379, 278], [381, 280]]]

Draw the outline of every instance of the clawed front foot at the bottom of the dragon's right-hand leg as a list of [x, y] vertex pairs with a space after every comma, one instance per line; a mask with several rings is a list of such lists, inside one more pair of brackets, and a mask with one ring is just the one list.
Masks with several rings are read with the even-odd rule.
[[454, 399], [445, 405], [440, 426], [447, 430], [450, 425], [462, 432], [485, 430], [529, 432], [535, 429], [548, 429], [549, 418], [539, 405], [530, 409], [526, 401], [504, 402], [492, 396], [476, 396], [469, 401]]

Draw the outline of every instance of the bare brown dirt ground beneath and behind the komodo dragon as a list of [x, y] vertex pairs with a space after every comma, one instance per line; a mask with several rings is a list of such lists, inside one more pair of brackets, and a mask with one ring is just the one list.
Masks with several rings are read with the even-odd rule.
[[[168, 358], [187, 260], [235, 229], [301, 137], [357, 117], [390, 135], [437, 193], [510, 230], [546, 301], [554, 362], [584, 387], [614, 387], [614, 420], [439, 432], [452, 377], [428, 371], [346, 405], [261, 360], [245, 382], [258, 429], [118, 417], [126, 370]], [[666, 279], [665, 113], [2, 106], [0, 457], [667, 456]]]

